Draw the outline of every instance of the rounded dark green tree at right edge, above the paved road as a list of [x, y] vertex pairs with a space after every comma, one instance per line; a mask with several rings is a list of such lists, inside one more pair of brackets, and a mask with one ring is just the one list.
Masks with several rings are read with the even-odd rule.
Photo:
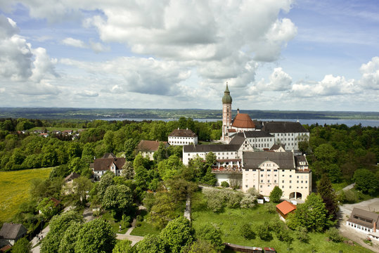
[[361, 190], [363, 193], [373, 194], [378, 189], [378, 179], [375, 174], [368, 169], [357, 169], [354, 172], [353, 180], [355, 188]]

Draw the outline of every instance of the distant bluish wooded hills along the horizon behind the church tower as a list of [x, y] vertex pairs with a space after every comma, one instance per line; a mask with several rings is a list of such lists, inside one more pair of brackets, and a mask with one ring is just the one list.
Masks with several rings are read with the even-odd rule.
[[[379, 119], [379, 112], [316, 112], [281, 110], [240, 110], [252, 119]], [[233, 116], [236, 112], [233, 113]], [[221, 119], [220, 110], [201, 109], [116, 109], [116, 108], [0, 108], [2, 118], [27, 119]]]

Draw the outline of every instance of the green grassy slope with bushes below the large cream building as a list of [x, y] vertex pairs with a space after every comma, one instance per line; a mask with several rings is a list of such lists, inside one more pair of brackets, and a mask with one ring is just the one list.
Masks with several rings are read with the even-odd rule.
[[[266, 204], [267, 205], [267, 204]], [[257, 205], [252, 209], [229, 209], [225, 208], [223, 212], [214, 213], [207, 210], [206, 202], [202, 193], [195, 193], [192, 198], [192, 218], [193, 228], [198, 231], [200, 226], [205, 223], [213, 223], [222, 231], [222, 240], [238, 245], [255, 246], [255, 247], [274, 247], [277, 252], [288, 252], [288, 245], [281, 242], [272, 233], [273, 240], [265, 242], [257, 236], [253, 240], [245, 240], [239, 233], [240, 226], [243, 223], [250, 223], [253, 228], [264, 223], [278, 219], [278, 214], [269, 214], [264, 205]], [[294, 238], [293, 231], [290, 232]], [[371, 252], [359, 245], [347, 245], [344, 242], [329, 242], [323, 233], [309, 233], [309, 242], [304, 243], [299, 240], [293, 240], [290, 245], [290, 252]]]

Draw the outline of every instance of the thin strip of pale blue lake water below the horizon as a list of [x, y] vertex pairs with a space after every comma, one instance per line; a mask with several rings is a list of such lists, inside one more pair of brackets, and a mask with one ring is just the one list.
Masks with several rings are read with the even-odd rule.
[[[172, 120], [178, 119], [151, 119], [151, 118], [105, 118], [101, 120], [134, 120], [134, 121], [143, 121], [143, 120], [161, 120], [164, 122], [169, 122]], [[193, 119], [198, 122], [216, 122], [221, 119]], [[379, 119], [257, 119], [259, 121], [288, 121], [288, 122], [297, 122], [301, 124], [346, 124], [347, 126], [354, 126], [361, 124], [362, 126], [377, 126], [379, 127]]]

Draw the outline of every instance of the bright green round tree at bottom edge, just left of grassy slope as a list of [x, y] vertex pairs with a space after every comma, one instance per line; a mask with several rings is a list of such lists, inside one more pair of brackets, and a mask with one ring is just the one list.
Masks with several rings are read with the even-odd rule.
[[160, 232], [167, 252], [179, 253], [181, 247], [190, 245], [193, 241], [193, 229], [191, 223], [184, 216], [170, 221]]

